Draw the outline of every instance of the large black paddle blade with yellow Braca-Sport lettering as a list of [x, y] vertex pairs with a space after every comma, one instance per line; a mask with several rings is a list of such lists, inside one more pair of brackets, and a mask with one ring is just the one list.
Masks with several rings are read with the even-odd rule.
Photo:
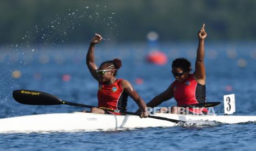
[[13, 98], [21, 104], [29, 105], [58, 105], [62, 101], [50, 94], [35, 90], [15, 90]]

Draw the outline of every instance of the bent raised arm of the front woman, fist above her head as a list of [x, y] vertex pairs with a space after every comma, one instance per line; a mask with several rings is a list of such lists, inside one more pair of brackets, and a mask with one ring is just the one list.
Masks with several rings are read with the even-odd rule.
[[97, 70], [97, 65], [94, 62], [94, 45], [99, 43], [101, 41], [102, 37], [100, 34], [95, 34], [95, 36], [91, 39], [91, 43], [86, 55], [86, 65], [92, 75], [96, 80], [98, 80], [96, 70]]

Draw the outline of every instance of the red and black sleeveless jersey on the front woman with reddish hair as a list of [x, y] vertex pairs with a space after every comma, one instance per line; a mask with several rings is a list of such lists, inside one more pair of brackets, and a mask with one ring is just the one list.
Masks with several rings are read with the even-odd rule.
[[112, 83], [111, 85], [99, 83], [99, 90], [97, 92], [99, 107], [124, 111], [127, 109], [126, 106], [128, 95], [123, 91], [122, 80], [123, 79], [117, 79], [116, 82]]

